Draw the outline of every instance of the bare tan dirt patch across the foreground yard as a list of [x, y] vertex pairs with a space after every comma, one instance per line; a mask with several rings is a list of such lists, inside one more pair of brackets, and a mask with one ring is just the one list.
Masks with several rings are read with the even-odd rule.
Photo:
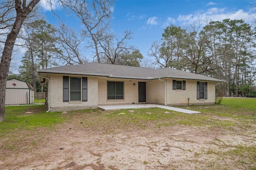
[[[10, 151], [1, 149], [2, 169], [44, 170], [172, 170], [220, 169], [237, 160], [223, 156], [236, 146], [255, 146], [255, 133], [232, 134], [207, 127], [161, 126], [106, 133], [84, 128], [80, 121], [63, 123], [55, 130], [23, 137]], [[25, 134], [25, 131], [24, 131]], [[17, 134], [16, 134], [17, 135]], [[35, 145], [28, 145], [37, 139]], [[8, 141], [2, 139], [1, 142]], [[62, 149], [60, 149], [62, 148]], [[220, 159], [222, 158], [222, 159]], [[239, 158], [238, 158], [239, 159]], [[255, 167], [255, 162], [243, 166]]]

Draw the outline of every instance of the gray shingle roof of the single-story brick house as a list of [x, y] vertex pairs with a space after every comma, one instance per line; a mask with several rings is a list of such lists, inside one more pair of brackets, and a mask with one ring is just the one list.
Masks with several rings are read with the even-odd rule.
[[78, 74], [78, 75], [93, 75], [93, 76], [107, 76], [113, 78], [130, 78], [152, 80], [158, 78], [180, 78], [192, 80], [205, 80], [223, 82], [216, 78], [202, 76], [182, 70], [173, 68], [162, 68], [159, 70], [152, 68], [142, 68], [115, 64], [103, 63], [86, 63], [79, 65], [66, 65], [44, 70], [37, 70], [38, 73], [60, 73], [60, 74]]

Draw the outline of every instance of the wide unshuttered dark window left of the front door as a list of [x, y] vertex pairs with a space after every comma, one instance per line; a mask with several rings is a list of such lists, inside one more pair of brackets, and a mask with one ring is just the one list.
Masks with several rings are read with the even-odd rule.
[[108, 100], [124, 99], [124, 82], [108, 81]]

